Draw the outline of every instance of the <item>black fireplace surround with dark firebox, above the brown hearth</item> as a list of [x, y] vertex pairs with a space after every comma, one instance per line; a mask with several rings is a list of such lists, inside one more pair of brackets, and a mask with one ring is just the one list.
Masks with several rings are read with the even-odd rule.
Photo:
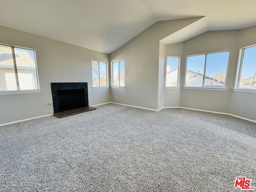
[[51, 83], [51, 87], [54, 113], [89, 106], [87, 82]]

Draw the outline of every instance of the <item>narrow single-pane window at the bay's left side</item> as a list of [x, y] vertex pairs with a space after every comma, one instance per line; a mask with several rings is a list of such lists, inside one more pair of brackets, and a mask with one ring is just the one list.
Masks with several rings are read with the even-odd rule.
[[167, 57], [166, 87], [177, 87], [179, 78], [180, 57]]

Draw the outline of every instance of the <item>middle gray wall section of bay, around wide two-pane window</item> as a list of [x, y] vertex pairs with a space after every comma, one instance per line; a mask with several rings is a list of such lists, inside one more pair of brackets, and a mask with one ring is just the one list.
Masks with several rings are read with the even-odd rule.
[[180, 76], [182, 87], [185, 84], [186, 56], [226, 50], [230, 50], [230, 56], [226, 90], [188, 90], [181, 88], [180, 106], [216, 112], [228, 112], [230, 97], [233, 92], [232, 88], [234, 88], [233, 80], [238, 59], [237, 36], [237, 30], [210, 31], [183, 43]]

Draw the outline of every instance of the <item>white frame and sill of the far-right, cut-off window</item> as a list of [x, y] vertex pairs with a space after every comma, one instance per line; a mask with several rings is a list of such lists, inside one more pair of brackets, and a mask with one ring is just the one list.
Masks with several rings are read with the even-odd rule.
[[253, 44], [250, 46], [240, 48], [240, 50], [239, 50], [238, 64], [237, 64], [237, 69], [236, 69], [236, 80], [235, 80], [234, 89], [233, 89], [234, 91], [256, 93], [256, 88], [239, 88], [240, 77], [241, 77], [241, 73], [242, 73], [242, 63], [243, 63], [243, 59], [244, 59], [244, 50], [246, 48], [255, 47], [255, 46], [256, 46], [256, 44]]

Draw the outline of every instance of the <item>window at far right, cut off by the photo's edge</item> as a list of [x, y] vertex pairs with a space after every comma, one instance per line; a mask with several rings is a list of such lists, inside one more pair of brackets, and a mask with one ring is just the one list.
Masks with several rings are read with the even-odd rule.
[[237, 88], [256, 90], [256, 45], [240, 50]]

